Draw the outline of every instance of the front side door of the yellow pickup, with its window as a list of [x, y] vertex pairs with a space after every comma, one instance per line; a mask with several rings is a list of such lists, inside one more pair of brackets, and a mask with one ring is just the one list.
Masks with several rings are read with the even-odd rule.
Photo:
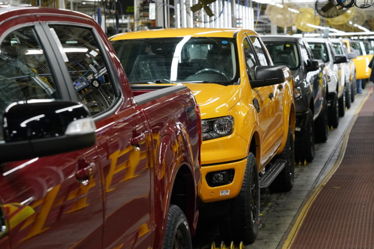
[[[255, 49], [252, 45], [252, 42], [248, 37], [243, 34], [242, 43], [244, 48], [244, 57], [247, 68], [247, 75], [249, 82], [255, 79], [255, 67], [266, 63], [266, 58], [261, 58], [260, 61], [256, 55]], [[261, 64], [262, 63], [262, 64]], [[273, 141], [271, 140], [272, 131], [270, 129], [273, 119], [274, 119], [274, 91], [272, 86], [262, 86], [252, 89], [254, 99], [258, 101], [260, 106], [260, 111], [258, 112], [258, 119], [260, 120], [260, 136], [263, 141], [263, 147], [261, 149], [261, 164], [266, 162], [272, 155], [272, 145]], [[251, 101], [253, 101], [251, 99]]]

